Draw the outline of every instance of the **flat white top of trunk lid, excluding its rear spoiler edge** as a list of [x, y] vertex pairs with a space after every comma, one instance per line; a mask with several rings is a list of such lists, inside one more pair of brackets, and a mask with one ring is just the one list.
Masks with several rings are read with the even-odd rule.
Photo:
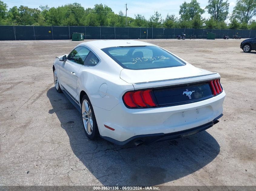
[[201, 68], [196, 68], [191, 64], [170, 68], [156, 68], [145, 70], [122, 69], [120, 78], [130, 84], [166, 81], [188, 77], [216, 74]]

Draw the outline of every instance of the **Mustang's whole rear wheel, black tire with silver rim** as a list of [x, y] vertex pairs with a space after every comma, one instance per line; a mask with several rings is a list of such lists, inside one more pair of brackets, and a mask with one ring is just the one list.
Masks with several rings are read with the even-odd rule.
[[93, 140], [99, 131], [91, 101], [87, 95], [84, 95], [81, 101], [81, 117], [86, 136]]

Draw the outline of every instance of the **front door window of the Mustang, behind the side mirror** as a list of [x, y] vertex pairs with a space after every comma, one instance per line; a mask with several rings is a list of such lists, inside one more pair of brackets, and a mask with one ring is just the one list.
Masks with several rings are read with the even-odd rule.
[[86, 57], [88, 56], [90, 50], [84, 46], [78, 46], [68, 55], [68, 60], [75, 62], [77, 64], [84, 64]]

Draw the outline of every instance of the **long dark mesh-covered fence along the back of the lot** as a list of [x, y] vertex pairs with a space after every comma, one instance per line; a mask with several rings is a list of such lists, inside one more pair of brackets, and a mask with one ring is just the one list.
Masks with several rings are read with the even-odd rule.
[[207, 38], [207, 32], [222, 38], [224, 34], [242, 38], [256, 37], [256, 30], [236, 29], [180, 29], [135, 27], [86, 27], [86, 26], [0, 26], [0, 40], [67, 40], [73, 33], [84, 33], [85, 39], [172, 39], [177, 35], [196, 35]]

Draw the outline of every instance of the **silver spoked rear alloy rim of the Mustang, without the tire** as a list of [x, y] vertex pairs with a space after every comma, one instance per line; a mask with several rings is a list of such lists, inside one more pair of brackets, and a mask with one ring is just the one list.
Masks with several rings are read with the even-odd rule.
[[92, 112], [89, 102], [86, 99], [82, 103], [82, 118], [86, 133], [91, 135], [93, 130]]

